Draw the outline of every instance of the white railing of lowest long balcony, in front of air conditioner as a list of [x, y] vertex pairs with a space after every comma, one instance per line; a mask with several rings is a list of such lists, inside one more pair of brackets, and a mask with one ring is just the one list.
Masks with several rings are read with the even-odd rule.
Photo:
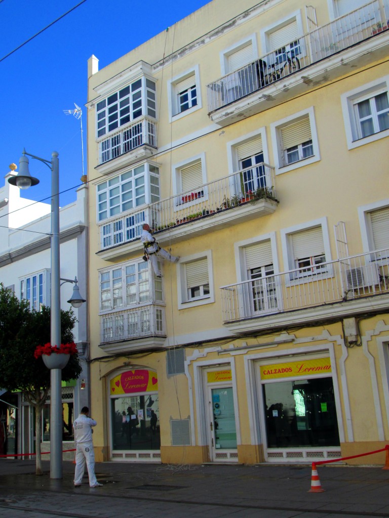
[[224, 322], [389, 292], [389, 249], [223, 286]]

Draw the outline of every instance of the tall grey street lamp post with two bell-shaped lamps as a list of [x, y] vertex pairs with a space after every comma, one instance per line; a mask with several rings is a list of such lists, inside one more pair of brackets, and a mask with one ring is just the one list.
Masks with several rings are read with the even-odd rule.
[[[30, 175], [29, 159], [27, 156], [46, 164], [51, 170], [51, 309], [50, 309], [50, 340], [51, 345], [61, 344], [61, 301], [60, 301], [60, 203], [59, 203], [59, 160], [58, 153], [51, 153], [51, 161], [41, 159], [23, 150], [19, 161], [19, 172], [8, 179], [12, 185], [20, 189], [28, 189], [39, 183], [37, 178]], [[65, 282], [75, 281], [64, 279]], [[79, 292], [78, 292], [79, 295]], [[73, 294], [74, 296], [74, 294]], [[72, 299], [71, 299], [72, 300]], [[70, 302], [71, 302], [70, 300]], [[85, 301], [81, 297], [79, 300]], [[50, 370], [50, 478], [62, 479], [62, 372], [61, 369]]]

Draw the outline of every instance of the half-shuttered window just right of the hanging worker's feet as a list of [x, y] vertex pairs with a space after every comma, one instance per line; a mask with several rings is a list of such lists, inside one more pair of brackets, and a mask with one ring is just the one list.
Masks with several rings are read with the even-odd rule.
[[178, 263], [179, 309], [214, 302], [211, 251], [182, 257]]

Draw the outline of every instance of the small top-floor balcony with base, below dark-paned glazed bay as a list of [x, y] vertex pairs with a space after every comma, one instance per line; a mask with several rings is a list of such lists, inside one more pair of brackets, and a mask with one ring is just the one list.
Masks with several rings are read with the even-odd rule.
[[157, 125], [152, 119], [143, 117], [100, 138], [98, 145], [99, 172], [104, 174], [105, 169], [112, 170], [109, 162], [117, 157], [122, 157], [122, 160], [115, 161], [115, 168], [120, 168], [124, 162], [129, 165], [154, 154], [157, 149]]

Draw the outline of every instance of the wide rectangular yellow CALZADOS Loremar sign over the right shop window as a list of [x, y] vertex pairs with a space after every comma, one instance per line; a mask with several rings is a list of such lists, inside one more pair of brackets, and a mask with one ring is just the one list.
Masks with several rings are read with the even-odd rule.
[[304, 359], [299, 362], [277, 363], [261, 366], [261, 379], [289, 378], [309, 376], [311, 374], [328, 374], [331, 372], [330, 358]]

